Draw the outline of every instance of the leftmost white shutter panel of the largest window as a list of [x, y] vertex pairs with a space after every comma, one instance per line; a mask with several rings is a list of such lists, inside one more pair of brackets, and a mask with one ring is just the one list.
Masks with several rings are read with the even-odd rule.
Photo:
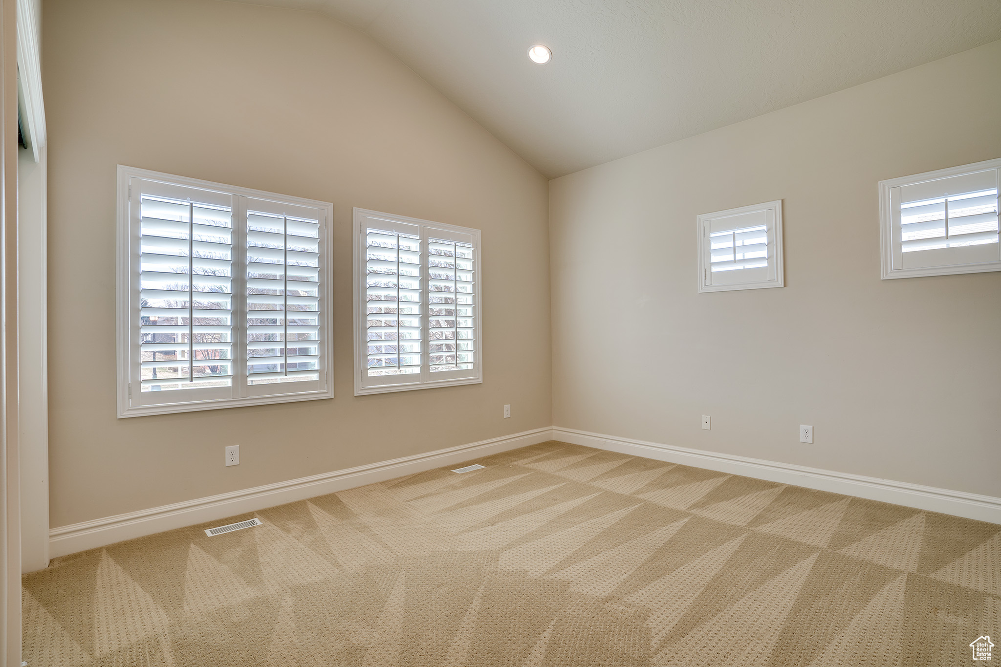
[[231, 396], [233, 197], [140, 179], [130, 196], [133, 402]]

